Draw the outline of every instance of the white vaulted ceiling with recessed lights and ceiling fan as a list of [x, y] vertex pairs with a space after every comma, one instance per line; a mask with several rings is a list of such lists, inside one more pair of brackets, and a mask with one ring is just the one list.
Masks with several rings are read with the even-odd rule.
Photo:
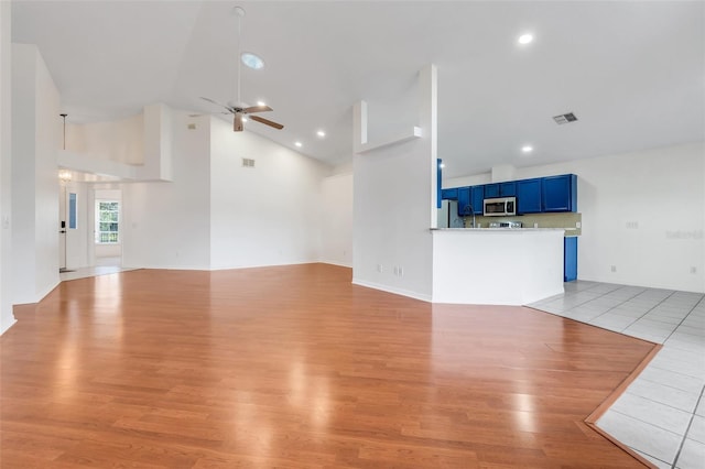
[[[14, 0], [12, 37], [39, 46], [69, 122], [156, 101], [215, 112], [198, 98], [235, 100], [235, 6], [241, 50], [265, 62], [242, 69], [242, 99], [285, 124], [248, 130], [330, 164], [351, 157], [357, 100], [371, 138], [414, 123], [408, 97], [430, 63], [449, 176], [704, 139], [699, 1]], [[534, 41], [518, 44], [527, 32]], [[565, 112], [578, 121], [557, 126]]]

